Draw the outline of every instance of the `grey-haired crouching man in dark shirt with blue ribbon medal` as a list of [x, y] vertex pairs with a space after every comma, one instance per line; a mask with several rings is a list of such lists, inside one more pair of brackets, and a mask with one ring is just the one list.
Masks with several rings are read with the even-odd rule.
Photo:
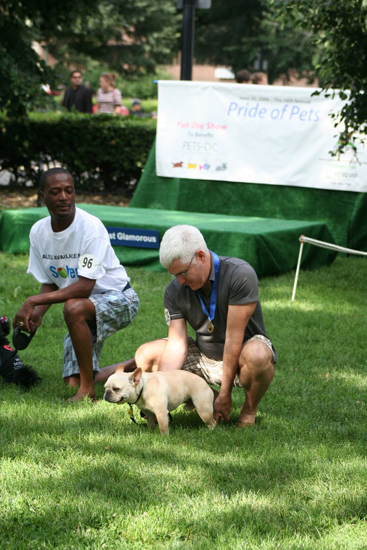
[[[221, 386], [214, 418], [223, 421], [230, 417], [232, 387], [242, 387], [245, 401], [238, 425], [252, 426], [276, 362], [254, 269], [208, 250], [192, 225], [166, 231], [159, 260], [173, 276], [164, 295], [168, 338], [142, 344], [135, 353], [137, 366], [144, 371], [183, 369]], [[195, 342], [188, 338], [186, 322], [196, 333]]]

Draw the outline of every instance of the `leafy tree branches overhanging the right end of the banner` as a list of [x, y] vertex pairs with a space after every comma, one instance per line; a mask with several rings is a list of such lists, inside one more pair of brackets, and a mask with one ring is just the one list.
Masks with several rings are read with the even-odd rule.
[[339, 89], [346, 104], [334, 113], [344, 131], [335, 153], [367, 135], [367, 3], [366, 0], [272, 0], [278, 21], [312, 32], [315, 74], [325, 92]]

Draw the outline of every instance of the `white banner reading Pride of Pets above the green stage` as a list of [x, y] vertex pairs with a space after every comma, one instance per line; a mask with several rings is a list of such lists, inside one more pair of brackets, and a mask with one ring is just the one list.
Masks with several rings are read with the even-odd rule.
[[329, 153], [344, 102], [313, 91], [160, 80], [157, 175], [366, 192], [363, 145]]

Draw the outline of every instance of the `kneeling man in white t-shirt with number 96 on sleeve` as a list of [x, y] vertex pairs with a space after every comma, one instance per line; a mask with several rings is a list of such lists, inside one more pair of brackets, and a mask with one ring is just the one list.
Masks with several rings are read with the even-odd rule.
[[93, 377], [104, 382], [111, 374], [98, 366], [104, 340], [129, 325], [139, 300], [102, 221], [76, 208], [74, 181], [67, 170], [43, 173], [41, 200], [49, 217], [30, 231], [27, 270], [41, 283], [41, 291], [25, 300], [13, 326], [33, 333], [50, 305], [64, 303], [69, 333], [63, 378], [69, 386], [79, 386], [71, 401], [95, 399]]

